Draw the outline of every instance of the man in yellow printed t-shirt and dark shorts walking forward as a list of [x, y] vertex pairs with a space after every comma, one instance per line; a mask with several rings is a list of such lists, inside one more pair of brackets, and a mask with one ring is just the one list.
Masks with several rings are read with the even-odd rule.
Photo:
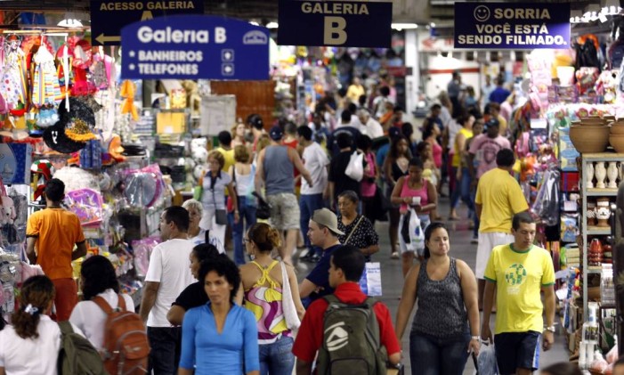
[[[516, 214], [514, 242], [492, 249], [485, 267], [485, 296], [481, 337], [491, 339], [490, 313], [496, 289], [494, 333], [498, 371], [531, 374], [539, 368], [539, 339], [550, 349], [555, 341], [555, 269], [546, 249], [533, 245], [535, 221], [527, 212]], [[544, 292], [544, 305], [540, 298]], [[546, 322], [542, 313], [546, 309]], [[543, 329], [542, 329], [543, 328]]]

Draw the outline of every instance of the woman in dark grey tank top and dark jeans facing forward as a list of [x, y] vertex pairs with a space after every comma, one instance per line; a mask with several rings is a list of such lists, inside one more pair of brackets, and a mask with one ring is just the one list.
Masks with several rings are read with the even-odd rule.
[[[396, 314], [401, 340], [416, 301], [409, 360], [419, 373], [461, 375], [471, 352], [479, 354], [479, 307], [474, 273], [449, 257], [449, 231], [436, 222], [425, 229], [425, 259], [409, 270]], [[444, 314], [440, 314], [444, 312]]]

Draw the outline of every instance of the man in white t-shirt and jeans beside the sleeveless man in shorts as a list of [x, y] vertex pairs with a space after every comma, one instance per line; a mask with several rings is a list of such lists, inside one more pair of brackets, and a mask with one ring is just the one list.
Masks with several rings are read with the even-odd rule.
[[[313, 260], [315, 255], [320, 257], [322, 249], [312, 249], [312, 244], [308, 238], [308, 226], [314, 211], [323, 208], [323, 193], [328, 185], [329, 159], [320, 144], [312, 141], [312, 129], [310, 127], [299, 126], [296, 129], [296, 133], [298, 135], [297, 141], [304, 147], [302, 158], [304, 167], [312, 175], [312, 187], [306, 181], [301, 183], [299, 225], [301, 226], [301, 232], [304, 234], [305, 247], [308, 249], [308, 253], [303, 259]], [[318, 254], [315, 254], [317, 252]]]

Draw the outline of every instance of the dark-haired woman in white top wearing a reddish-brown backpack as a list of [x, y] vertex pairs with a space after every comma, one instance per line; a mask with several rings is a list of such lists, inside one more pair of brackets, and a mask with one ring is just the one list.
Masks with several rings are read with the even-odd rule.
[[127, 294], [119, 294], [119, 282], [115, 268], [107, 257], [93, 256], [83, 262], [80, 269], [80, 284], [83, 300], [78, 302], [69, 316], [85, 337], [99, 352], [103, 350], [104, 325], [107, 314], [93, 298], [103, 298], [111, 308], [126, 306], [126, 311], [134, 312], [134, 302]]

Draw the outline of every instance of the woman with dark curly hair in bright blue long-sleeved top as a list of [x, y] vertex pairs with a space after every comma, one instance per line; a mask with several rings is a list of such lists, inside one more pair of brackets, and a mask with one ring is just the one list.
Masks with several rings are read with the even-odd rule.
[[184, 315], [178, 375], [259, 375], [254, 314], [234, 303], [239, 268], [229, 258], [217, 257], [201, 264], [199, 281], [208, 303]]

